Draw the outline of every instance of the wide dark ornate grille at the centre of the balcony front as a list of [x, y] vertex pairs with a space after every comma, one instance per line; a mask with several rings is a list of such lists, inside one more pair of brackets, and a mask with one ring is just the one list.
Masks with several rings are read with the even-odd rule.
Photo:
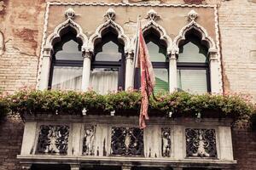
[[112, 127], [113, 156], [143, 156], [143, 130], [137, 127]]

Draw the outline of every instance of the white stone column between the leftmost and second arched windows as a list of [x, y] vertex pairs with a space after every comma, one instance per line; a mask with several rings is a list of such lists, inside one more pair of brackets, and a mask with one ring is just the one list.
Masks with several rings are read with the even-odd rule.
[[90, 60], [92, 53], [85, 51], [84, 53], [84, 64], [83, 64], [83, 76], [82, 76], [82, 87], [83, 92], [87, 91], [90, 86]]

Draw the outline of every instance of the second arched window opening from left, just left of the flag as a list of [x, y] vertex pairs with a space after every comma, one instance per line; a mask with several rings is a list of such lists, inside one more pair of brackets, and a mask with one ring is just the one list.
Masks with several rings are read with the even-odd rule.
[[90, 87], [100, 94], [125, 89], [124, 44], [112, 29], [96, 42], [91, 62]]

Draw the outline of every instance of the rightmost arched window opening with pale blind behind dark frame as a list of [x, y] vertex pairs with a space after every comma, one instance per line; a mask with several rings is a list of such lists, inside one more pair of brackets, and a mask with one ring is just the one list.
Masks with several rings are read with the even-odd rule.
[[179, 45], [177, 58], [177, 88], [191, 93], [203, 94], [211, 91], [208, 48], [194, 33], [186, 35]]

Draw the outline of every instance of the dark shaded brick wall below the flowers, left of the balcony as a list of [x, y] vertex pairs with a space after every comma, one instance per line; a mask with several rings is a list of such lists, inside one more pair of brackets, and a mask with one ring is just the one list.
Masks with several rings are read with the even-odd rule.
[[24, 123], [17, 117], [0, 122], [0, 170], [20, 170], [16, 159], [20, 154]]

